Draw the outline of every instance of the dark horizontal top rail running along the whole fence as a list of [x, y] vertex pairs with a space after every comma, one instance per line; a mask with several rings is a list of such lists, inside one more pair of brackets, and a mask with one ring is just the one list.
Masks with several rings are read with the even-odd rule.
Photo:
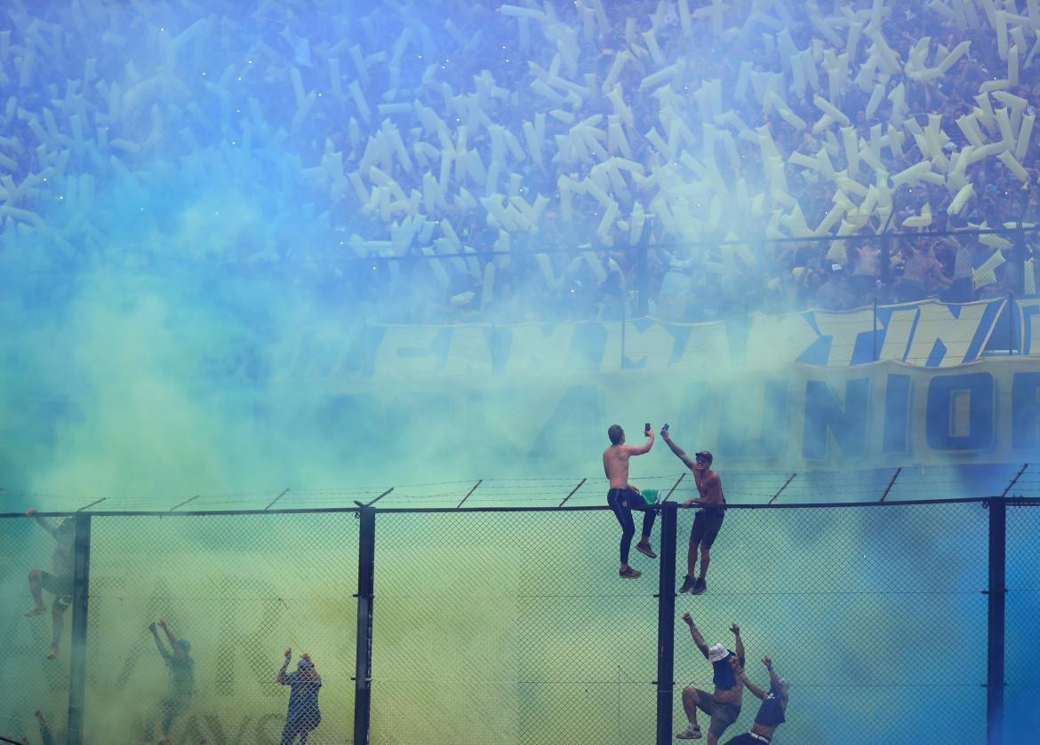
[[[791, 502], [781, 504], [753, 503], [753, 504], [727, 504], [726, 510], [755, 510], [755, 509], [847, 509], [860, 507], [910, 507], [916, 505], [937, 505], [937, 504], [979, 504], [989, 506], [992, 503], [1000, 503], [1008, 506], [1040, 507], [1040, 498], [1037, 497], [966, 497], [961, 499], [929, 499], [929, 500], [895, 500], [891, 502]], [[675, 504], [681, 509], [678, 503], [667, 502], [655, 505], [660, 509], [662, 504]], [[691, 507], [695, 509], [697, 507]], [[589, 512], [605, 510], [609, 507], [603, 505], [501, 505], [501, 506], [473, 506], [473, 507], [298, 507], [292, 509], [214, 509], [214, 510], [185, 510], [183, 512], [170, 512], [168, 510], [99, 510], [97, 512], [35, 512], [40, 517], [68, 517], [77, 514], [87, 514], [92, 517], [201, 517], [207, 515], [215, 516], [236, 516], [236, 515], [272, 515], [272, 514], [338, 514], [357, 513], [362, 510], [371, 510], [375, 513], [435, 513], [435, 512]], [[0, 520], [25, 517], [24, 512], [0, 512]]]

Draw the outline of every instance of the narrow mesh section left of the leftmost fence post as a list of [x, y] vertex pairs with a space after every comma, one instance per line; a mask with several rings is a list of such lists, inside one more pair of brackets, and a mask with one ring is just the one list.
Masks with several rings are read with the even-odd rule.
[[[41, 587], [44, 610], [25, 616], [35, 603], [29, 591], [33, 569], [52, 578], [60, 574], [59, 543], [28, 517], [0, 518], [0, 735], [40, 742], [38, 711], [56, 738], [61, 738], [69, 711], [69, 627], [72, 610], [67, 596]], [[56, 521], [46, 518], [54, 527]], [[70, 547], [71, 548], [71, 547]], [[9, 598], [9, 602], [8, 602]], [[48, 659], [57, 603], [61, 624], [58, 648]]]

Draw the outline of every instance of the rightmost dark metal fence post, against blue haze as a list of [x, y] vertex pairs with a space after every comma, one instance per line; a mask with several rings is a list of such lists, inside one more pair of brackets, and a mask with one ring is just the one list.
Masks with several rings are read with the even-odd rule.
[[1004, 622], [1007, 563], [1007, 505], [1003, 497], [989, 506], [989, 588], [987, 589], [986, 743], [1004, 743]]

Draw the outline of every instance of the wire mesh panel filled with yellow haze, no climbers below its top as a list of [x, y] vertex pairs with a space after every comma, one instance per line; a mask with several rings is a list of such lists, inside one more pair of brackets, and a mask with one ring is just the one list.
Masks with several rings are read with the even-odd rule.
[[371, 742], [654, 738], [655, 562], [607, 510], [381, 513]]

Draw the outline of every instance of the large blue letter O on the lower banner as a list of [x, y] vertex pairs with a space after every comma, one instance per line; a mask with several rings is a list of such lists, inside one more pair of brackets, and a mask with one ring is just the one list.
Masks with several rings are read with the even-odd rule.
[[[954, 395], [968, 394], [968, 431], [956, 434]], [[928, 385], [925, 431], [933, 450], [985, 450], [993, 444], [993, 376], [989, 373], [934, 377]]]

